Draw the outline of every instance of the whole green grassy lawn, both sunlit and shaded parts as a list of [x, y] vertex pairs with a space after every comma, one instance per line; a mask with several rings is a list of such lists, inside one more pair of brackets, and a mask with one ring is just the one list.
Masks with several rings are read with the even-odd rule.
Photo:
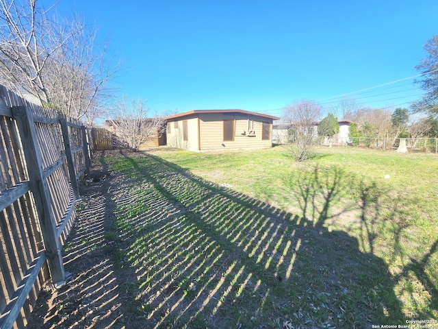
[[[438, 158], [282, 147], [104, 159], [129, 328], [438, 319]], [[389, 175], [389, 178], [385, 178]], [[120, 287], [122, 289], [122, 287]]]

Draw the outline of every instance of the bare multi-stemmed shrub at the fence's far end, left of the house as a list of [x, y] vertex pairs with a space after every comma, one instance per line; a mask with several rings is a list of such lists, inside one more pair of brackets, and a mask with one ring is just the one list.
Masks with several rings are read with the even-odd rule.
[[115, 134], [133, 151], [138, 151], [142, 143], [164, 134], [164, 119], [156, 114], [148, 117], [149, 108], [141, 99], [127, 100], [122, 98], [116, 102], [107, 122], [114, 127]]

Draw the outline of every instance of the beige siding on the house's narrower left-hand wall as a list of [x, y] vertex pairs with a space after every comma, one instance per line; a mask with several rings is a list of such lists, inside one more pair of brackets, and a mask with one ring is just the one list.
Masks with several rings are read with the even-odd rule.
[[[188, 141], [183, 138], [183, 121], [187, 120], [187, 137]], [[175, 128], [175, 121], [178, 122], [178, 127]], [[183, 120], [168, 121], [170, 123], [170, 134], [167, 132], [167, 145], [177, 147], [179, 149], [188, 149], [190, 151], [198, 151], [198, 118], [188, 117]]]

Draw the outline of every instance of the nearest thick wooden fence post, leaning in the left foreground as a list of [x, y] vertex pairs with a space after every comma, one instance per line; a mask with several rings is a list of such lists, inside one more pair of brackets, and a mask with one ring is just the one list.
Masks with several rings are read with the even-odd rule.
[[65, 280], [64, 263], [62, 263], [62, 246], [56, 233], [55, 216], [53, 215], [49, 186], [42, 175], [42, 157], [38, 149], [33, 113], [25, 106], [12, 107], [23, 144], [23, 151], [29, 175], [29, 186], [38, 219], [40, 221], [44, 252], [49, 263], [49, 271], [54, 284], [62, 284]]

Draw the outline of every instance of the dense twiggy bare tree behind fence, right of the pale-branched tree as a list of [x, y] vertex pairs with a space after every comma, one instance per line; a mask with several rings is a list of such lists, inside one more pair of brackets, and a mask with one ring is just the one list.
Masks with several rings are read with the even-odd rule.
[[88, 27], [79, 18], [69, 24], [75, 24], [72, 29], [76, 33], [48, 63], [44, 81], [51, 103], [70, 117], [92, 123], [114, 95], [109, 82], [118, 73], [120, 62], [107, 58], [108, 44], [99, 45], [96, 28]]

